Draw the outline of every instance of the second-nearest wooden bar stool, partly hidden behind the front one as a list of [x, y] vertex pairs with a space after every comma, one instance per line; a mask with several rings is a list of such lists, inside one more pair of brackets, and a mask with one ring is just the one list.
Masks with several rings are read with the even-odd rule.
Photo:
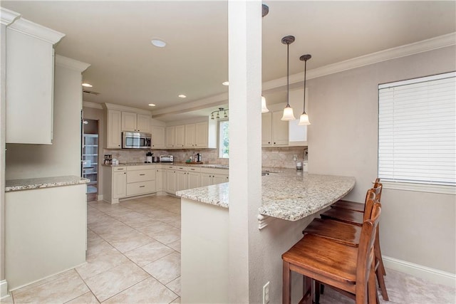
[[[309, 226], [304, 229], [303, 234], [316, 234], [318, 236], [344, 243], [348, 246], [358, 246], [359, 237], [361, 234], [361, 224], [366, 219], [371, 217], [372, 205], [368, 201], [374, 199], [378, 201], [381, 197], [382, 184], [376, 184], [377, 187], [369, 189], [366, 194], [366, 204], [363, 204], [365, 210], [363, 213], [348, 209], [330, 209], [321, 214], [322, 219], [314, 219]], [[388, 299], [388, 291], [386, 290], [385, 268], [383, 266], [383, 258], [380, 250], [380, 239], [377, 231], [375, 231], [375, 274], [377, 276], [378, 285], [380, 287], [383, 300]], [[323, 292], [321, 290], [321, 292]]]

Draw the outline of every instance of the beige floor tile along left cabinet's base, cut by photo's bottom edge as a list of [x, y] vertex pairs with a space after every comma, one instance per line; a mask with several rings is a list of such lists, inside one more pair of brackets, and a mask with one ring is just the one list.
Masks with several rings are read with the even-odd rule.
[[48, 281], [25, 291], [14, 291], [14, 303], [65, 303], [77, 298], [89, 289], [76, 271], [66, 271], [63, 276], [56, 276]]

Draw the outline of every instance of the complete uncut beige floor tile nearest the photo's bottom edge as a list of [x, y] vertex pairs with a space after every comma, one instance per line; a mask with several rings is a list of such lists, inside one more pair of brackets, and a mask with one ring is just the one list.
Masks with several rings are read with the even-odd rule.
[[130, 288], [149, 275], [135, 263], [128, 261], [86, 280], [90, 290], [100, 302]]

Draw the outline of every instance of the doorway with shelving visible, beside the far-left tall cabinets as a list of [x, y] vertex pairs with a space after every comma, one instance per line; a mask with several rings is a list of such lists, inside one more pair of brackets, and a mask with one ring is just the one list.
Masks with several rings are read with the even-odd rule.
[[89, 179], [87, 201], [96, 201], [98, 196], [98, 120], [83, 120], [82, 177]]

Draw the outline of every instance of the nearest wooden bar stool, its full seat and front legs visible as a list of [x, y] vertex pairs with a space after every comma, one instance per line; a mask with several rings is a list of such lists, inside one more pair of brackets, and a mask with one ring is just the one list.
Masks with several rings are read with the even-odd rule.
[[304, 276], [303, 299], [299, 303], [311, 303], [311, 280], [354, 298], [356, 304], [377, 303], [373, 244], [381, 207], [373, 200], [370, 204], [371, 219], [363, 223], [358, 247], [306, 234], [282, 255], [284, 304], [291, 303], [291, 271]]

